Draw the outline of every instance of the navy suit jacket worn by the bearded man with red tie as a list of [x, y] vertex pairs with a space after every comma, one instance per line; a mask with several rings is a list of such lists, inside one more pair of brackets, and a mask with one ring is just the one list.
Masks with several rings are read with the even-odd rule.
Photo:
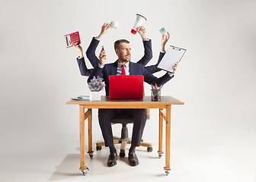
[[[90, 77], [88, 78], [88, 83], [93, 77], [102, 77], [104, 78], [104, 82], [106, 84], [106, 96], [109, 95], [109, 76], [110, 75], [117, 75], [117, 61], [110, 64], [105, 64], [103, 68], [101, 67], [94, 67], [94, 71], [91, 73]], [[133, 63], [130, 61], [130, 75], [143, 75], [144, 81], [146, 83], [161, 86], [171, 80], [172, 77], [166, 73], [162, 77], [155, 77], [153, 74], [146, 71], [146, 68], [142, 64]]]

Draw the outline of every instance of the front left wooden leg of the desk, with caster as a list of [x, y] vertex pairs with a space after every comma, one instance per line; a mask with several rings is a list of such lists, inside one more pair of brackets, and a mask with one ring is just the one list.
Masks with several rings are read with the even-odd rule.
[[85, 166], [85, 107], [79, 105], [79, 129], [80, 129], [80, 170], [87, 170]]

